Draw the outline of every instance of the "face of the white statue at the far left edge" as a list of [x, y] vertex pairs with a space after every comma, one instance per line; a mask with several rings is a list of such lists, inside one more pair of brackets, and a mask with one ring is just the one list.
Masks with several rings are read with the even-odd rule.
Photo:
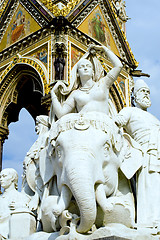
[[0, 173], [0, 183], [1, 187], [7, 189], [11, 186], [13, 182], [13, 176], [8, 170], [3, 170]]

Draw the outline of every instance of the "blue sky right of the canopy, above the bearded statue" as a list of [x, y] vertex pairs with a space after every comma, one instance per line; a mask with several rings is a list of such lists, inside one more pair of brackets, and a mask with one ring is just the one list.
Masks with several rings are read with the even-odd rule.
[[[151, 90], [152, 106], [148, 109], [160, 120], [160, 1], [126, 0], [127, 40], [139, 62], [138, 69], [150, 74], [143, 78]], [[137, 78], [135, 78], [136, 80]]]

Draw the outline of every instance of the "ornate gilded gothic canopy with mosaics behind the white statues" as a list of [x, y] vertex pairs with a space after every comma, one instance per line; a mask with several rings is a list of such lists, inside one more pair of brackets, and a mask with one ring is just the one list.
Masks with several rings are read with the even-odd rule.
[[[124, 4], [118, 5], [113, 0], [7, 0], [2, 5], [0, 124], [7, 127], [9, 122], [17, 120], [19, 101], [22, 100], [18, 96], [22, 95], [21, 89], [27, 89], [21, 86], [23, 84], [31, 88], [28, 91], [33, 93], [34, 109], [37, 107], [35, 89], [40, 94], [39, 110], [31, 111], [33, 117], [49, 111], [50, 84], [60, 79], [70, 85], [73, 66], [90, 44], [107, 46], [124, 65], [110, 88], [111, 115], [131, 105], [132, 73], [136, 72], [138, 63], [125, 35], [127, 15]], [[107, 74], [112, 63], [103, 53], [97, 56]], [[61, 60], [63, 76], [58, 79], [60, 75], [56, 75], [56, 71], [59, 71]], [[59, 66], [56, 66], [57, 62]], [[30, 99], [26, 98], [26, 101]], [[14, 119], [11, 117], [13, 112], [16, 112]]]

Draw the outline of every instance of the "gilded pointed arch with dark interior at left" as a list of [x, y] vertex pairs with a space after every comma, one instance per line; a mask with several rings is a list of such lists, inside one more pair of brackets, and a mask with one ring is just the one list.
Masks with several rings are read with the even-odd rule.
[[48, 113], [47, 107], [41, 104], [42, 97], [48, 93], [47, 71], [39, 60], [17, 56], [0, 80], [1, 127], [16, 122], [22, 108], [34, 119]]

